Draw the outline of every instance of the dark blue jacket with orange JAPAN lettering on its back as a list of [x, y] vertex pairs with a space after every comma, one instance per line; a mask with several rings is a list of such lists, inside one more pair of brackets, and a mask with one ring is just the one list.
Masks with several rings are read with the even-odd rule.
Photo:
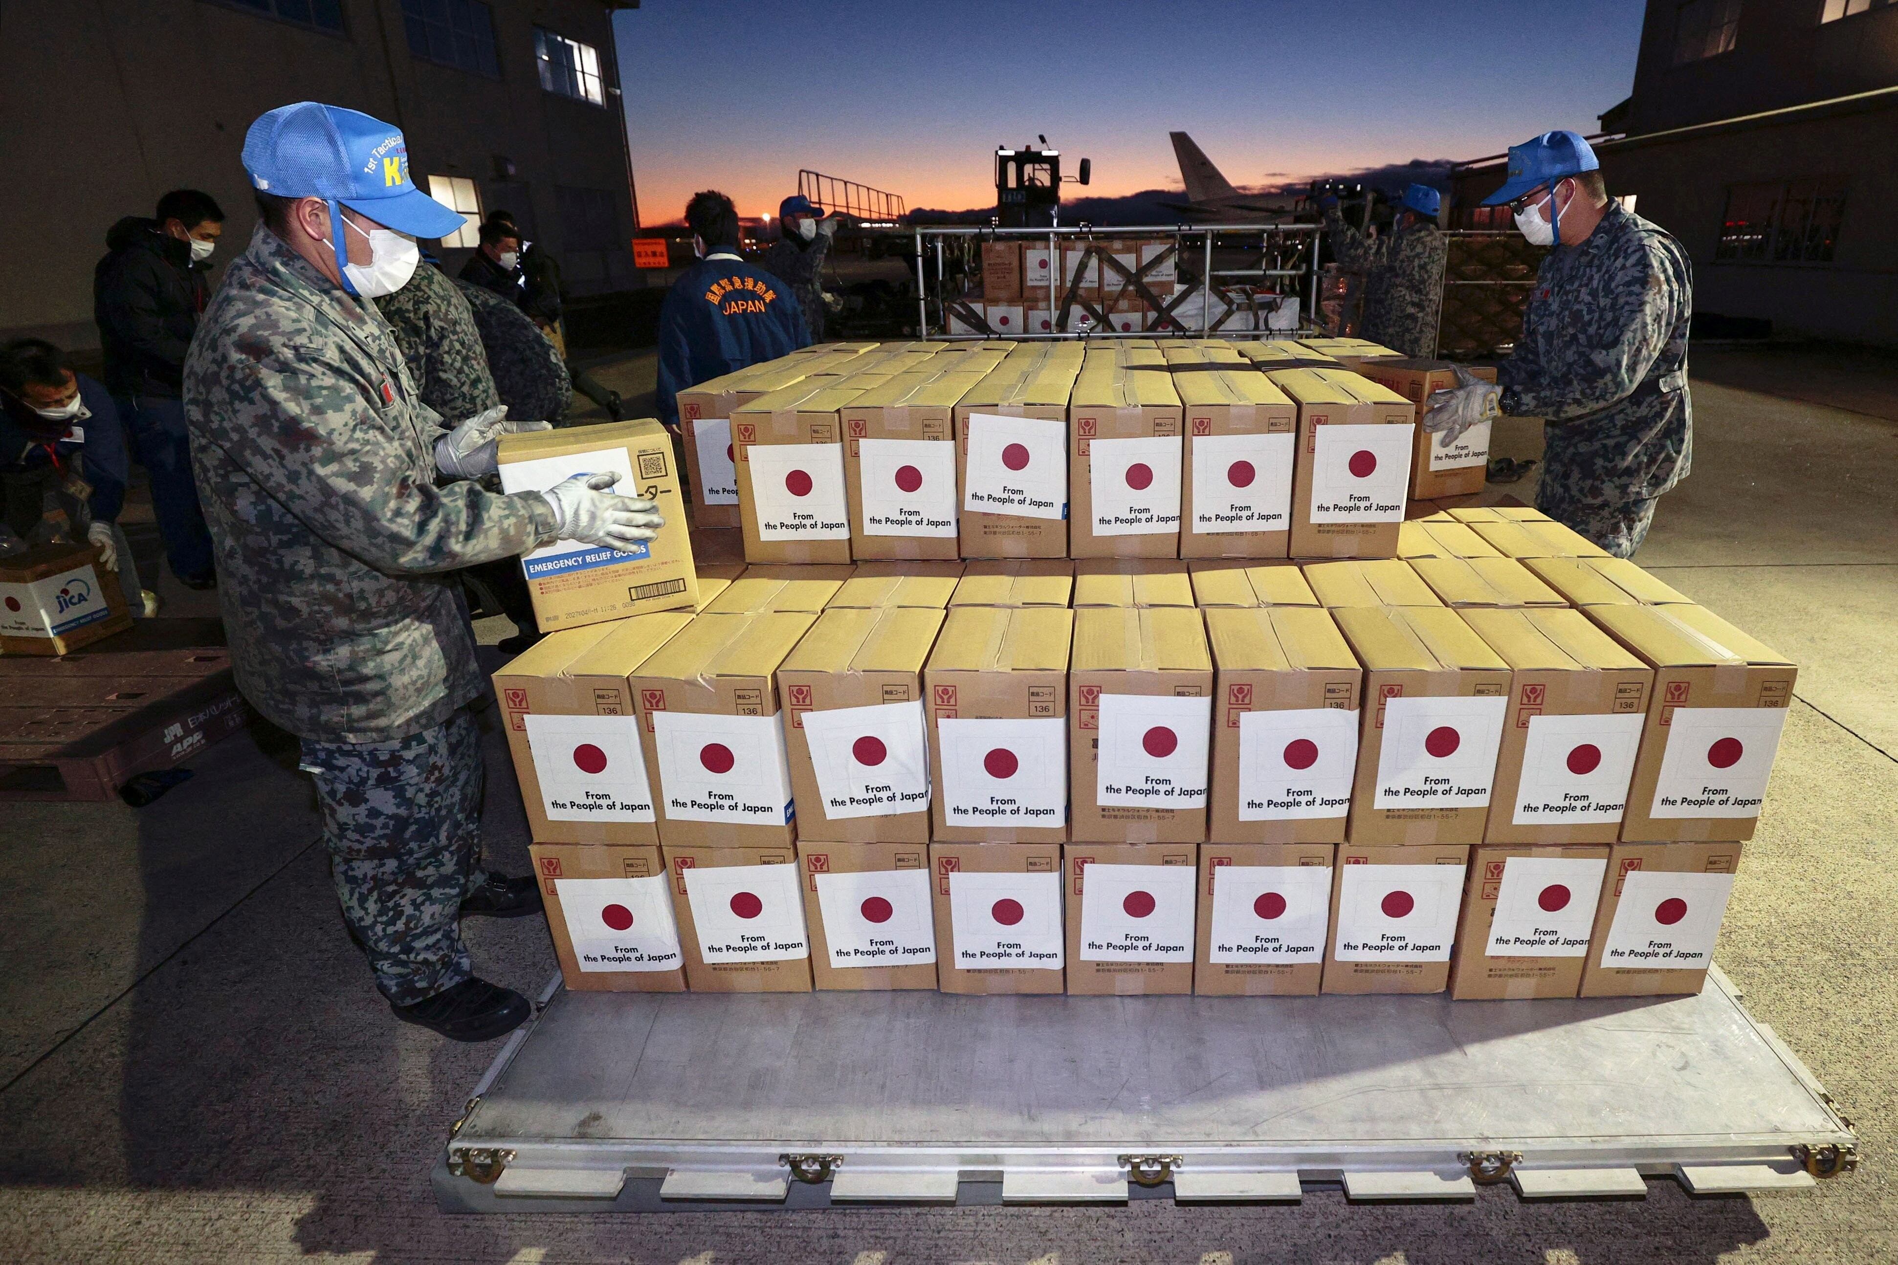
[[791, 288], [735, 250], [714, 250], [659, 309], [659, 419], [679, 425], [679, 391], [809, 345]]

